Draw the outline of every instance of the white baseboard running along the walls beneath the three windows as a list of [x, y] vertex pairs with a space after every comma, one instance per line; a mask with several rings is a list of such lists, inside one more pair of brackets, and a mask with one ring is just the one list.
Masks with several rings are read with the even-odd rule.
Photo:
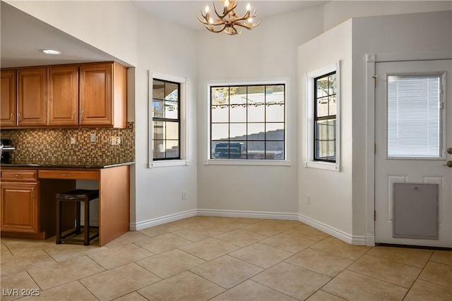
[[167, 216], [149, 219], [148, 221], [140, 221], [138, 223], [130, 223], [131, 231], [140, 231], [145, 228], [161, 225], [162, 223], [170, 223], [172, 221], [179, 221], [179, 219], [186, 219], [192, 216], [220, 216], [220, 217], [241, 217], [247, 219], [283, 219], [290, 221], [301, 221], [307, 225], [316, 228], [322, 232], [327, 233], [335, 238], [343, 240], [350, 245], [369, 245], [369, 235], [357, 236], [350, 235], [344, 231], [328, 226], [314, 219], [311, 219], [302, 214], [287, 213], [287, 212], [266, 212], [266, 211], [239, 211], [239, 210], [220, 210], [220, 209], [193, 209], [189, 211], [180, 212], [177, 214], [169, 214]]

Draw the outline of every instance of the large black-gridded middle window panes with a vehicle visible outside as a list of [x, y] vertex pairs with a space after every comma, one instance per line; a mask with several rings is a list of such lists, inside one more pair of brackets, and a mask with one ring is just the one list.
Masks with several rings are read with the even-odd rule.
[[210, 85], [212, 161], [284, 161], [286, 84]]

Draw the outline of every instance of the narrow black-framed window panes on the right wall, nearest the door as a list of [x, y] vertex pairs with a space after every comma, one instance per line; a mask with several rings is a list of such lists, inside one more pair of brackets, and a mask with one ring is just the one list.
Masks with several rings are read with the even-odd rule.
[[314, 78], [314, 161], [336, 161], [336, 73]]

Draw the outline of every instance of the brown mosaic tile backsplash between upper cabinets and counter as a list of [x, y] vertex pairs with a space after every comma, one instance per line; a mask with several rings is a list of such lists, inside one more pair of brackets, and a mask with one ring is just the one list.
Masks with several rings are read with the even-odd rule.
[[[90, 142], [95, 134], [96, 142]], [[135, 161], [135, 123], [127, 128], [55, 128], [1, 130], [1, 139], [11, 140], [16, 150], [11, 161], [81, 160]], [[71, 145], [71, 137], [76, 144]], [[112, 145], [111, 137], [120, 137], [121, 144]]]

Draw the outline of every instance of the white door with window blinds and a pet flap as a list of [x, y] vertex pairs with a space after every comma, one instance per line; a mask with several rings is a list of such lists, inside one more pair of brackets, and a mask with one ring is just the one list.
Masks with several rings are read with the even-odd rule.
[[[452, 60], [376, 63], [375, 73], [375, 241], [452, 247]], [[407, 197], [407, 213], [395, 214], [394, 183], [438, 185], [437, 238], [393, 234], [394, 218], [410, 220], [416, 206]], [[424, 223], [422, 212], [415, 216], [408, 228]]]

